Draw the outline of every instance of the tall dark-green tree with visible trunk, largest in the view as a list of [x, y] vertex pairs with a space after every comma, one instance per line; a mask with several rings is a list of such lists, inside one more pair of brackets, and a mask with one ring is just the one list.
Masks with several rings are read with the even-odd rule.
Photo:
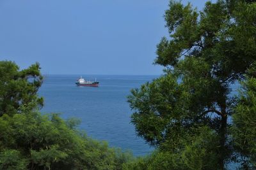
[[[237, 104], [232, 87], [256, 59], [256, 3], [207, 2], [198, 12], [190, 3], [170, 1], [164, 17], [170, 38], [161, 39], [155, 60], [164, 75], [131, 91], [132, 123], [150, 145], [178, 155], [207, 134], [211, 140], [196, 147], [212, 153], [214, 166], [195, 169], [225, 169], [234, 153], [228, 131]], [[182, 164], [193, 160], [185, 157]]]

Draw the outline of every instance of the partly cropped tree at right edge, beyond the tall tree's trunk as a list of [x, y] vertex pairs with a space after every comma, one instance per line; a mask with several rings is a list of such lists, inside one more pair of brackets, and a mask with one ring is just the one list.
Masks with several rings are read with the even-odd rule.
[[234, 109], [232, 137], [243, 169], [256, 169], [256, 78], [247, 76], [242, 83], [239, 102]]

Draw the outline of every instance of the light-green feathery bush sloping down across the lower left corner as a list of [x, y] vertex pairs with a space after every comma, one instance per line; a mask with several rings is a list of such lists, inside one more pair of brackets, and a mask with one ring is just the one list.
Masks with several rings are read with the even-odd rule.
[[121, 169], [130, 157], [70, 129], [56, 114], [4, 114], [0, 124], [3, 169]]

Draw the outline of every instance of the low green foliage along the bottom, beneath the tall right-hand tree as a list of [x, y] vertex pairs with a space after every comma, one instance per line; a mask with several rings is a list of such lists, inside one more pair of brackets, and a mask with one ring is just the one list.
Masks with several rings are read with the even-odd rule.
[[214, 148], [205, 150], [216, 143], [215, 136], [211, 129], [202, 127], [198, 134], [188, 136], [191, 139], [184, 138], [184, 146], [179, 148], [179, 152], [158, 150], [147, 157], [127, 162], [124, 169], [219, 169]]

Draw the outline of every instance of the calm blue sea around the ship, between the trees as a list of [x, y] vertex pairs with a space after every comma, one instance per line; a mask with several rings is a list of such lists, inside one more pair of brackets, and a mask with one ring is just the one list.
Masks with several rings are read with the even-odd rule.
[[63, 118], [79, 118], [79, 129], [109, 146], [146, 155], [153, 148], [136, 136], [127, 103], [130, 90], [158, 76], [82, 75], [100, 81], [99, 87], [77, 87], [81, 75], [46, 75], [39, 95], [44, 97], [43, 113], [61, 113]]

